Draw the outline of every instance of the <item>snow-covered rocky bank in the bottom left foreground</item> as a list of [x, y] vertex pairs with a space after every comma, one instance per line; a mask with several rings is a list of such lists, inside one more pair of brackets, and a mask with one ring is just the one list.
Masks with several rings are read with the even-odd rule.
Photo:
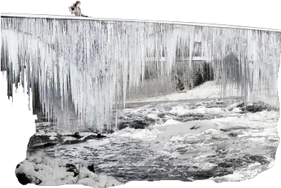
[[114, 177], [91, 172], [83, 164], [73, 165], [64, 160], [55, 159], [43, 150], [28, 150], [28, 157], [19, 164], [15, 173], [21, 177], [21, 180], [24, 179], [25, 182], [40, 186], [83, 184], [104, 188], [122, 184]]

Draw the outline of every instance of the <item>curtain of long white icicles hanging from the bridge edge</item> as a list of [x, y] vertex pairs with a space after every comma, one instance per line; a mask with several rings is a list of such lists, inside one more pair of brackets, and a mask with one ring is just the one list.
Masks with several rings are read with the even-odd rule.
[[142, 90], [146, 71], [168, 87], [173, 83], [166, 78], [182, 61], [193, 83], [198, 45], [223, 96], [239, 88], [245, 100], [278, 106], [280, 31], [13, 16], [2, 16], [0, 24], [0, 59], [9, 72], [9, 92], [21, 75], [31, 88], [32, 103], [38, 84], [44, 112], [68, 129], [110, 129], [116, 104], [124, 105], [128, 93]]

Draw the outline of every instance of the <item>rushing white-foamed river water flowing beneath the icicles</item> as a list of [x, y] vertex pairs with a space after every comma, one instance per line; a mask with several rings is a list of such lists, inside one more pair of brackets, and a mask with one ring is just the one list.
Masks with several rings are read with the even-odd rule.
[[[124, 128], [103, 140], [47, 149], [70, 162], [129, 180], [238, 181], [272, 167], [278, 145], [276, 111], [242, 113], [237, 99], [128, 104], [120, 122], [149, 122]], [[271, 165], [271, 166], [270, 166]]]

